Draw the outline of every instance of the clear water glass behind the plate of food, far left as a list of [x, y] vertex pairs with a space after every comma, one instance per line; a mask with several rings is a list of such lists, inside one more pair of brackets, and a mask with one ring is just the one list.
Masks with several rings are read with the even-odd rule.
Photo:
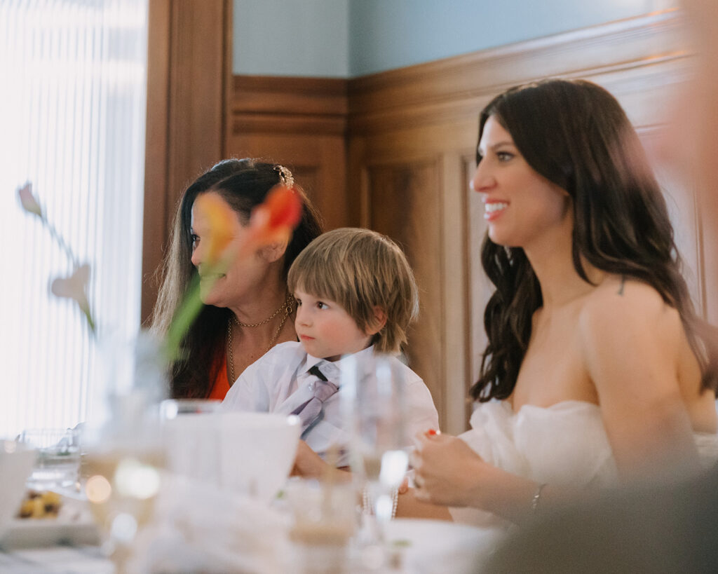
[[22, 431], [18, 442], [37, 451], [35, 466], [27, 479], [29, 489], [42, 491], [75, 487], [80, 471], [78, 429], [27, 429]]

